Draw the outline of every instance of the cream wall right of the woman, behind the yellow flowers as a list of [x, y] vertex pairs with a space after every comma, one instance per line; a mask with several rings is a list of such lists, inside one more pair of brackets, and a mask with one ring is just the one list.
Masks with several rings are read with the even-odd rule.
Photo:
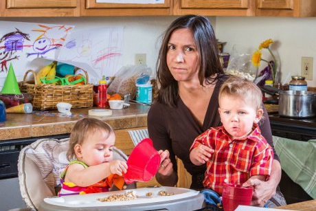
[[[286, 74], [300, 75], [302, 56], [313, 57], [313, 80], [306, 81], [308, 86], [316, 87], [316, 17], [218, 16], [216, 36], [227, 42], [225, 52], [232, 53], [235, 45], [238, 52], [248, 54], [252, 54], [262, 41], [272, 38], [275, 41], [273, 52], [280, 58], [282, 80]], [[270, 58], [269, 53], [265, 51], [262, 58]]]

